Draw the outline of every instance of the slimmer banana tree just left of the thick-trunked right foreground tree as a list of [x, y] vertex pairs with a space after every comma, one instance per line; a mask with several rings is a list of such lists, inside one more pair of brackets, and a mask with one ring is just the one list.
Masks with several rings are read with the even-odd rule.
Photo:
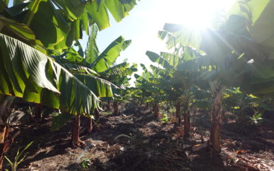
[[[176, 38], [167, 31], [159, 31], [159, 36], [166, 39], [168, 48], [174, 47], [173, 53], [161, 52], [160, 55], [147, 51], [146, 55], [152, 62], [160, 64], [164, 70], [162, 73], [168, 73], [162, 81], [166, 81], [164, 85], [166, 94], [176, 103], [177, 124], [181, 124], [180, 107], [182, 104], [184, 110], [184, 137], [190, 136], [190, 106], [192, 103], [192, 95], [190, 88], [195, 86], [194, 81], [197, 78], [197, 72], [190, 70], [182, 70], [181, 66], [194, 58], [197, 54], [188, 47], [175, 44]], [[167, 87], [167, 85], [169, 87]]]

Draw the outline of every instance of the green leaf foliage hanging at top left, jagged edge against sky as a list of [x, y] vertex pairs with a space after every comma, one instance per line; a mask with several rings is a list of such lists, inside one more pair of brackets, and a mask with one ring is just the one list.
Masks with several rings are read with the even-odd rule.
[[89, 25], [97, 23], [100, 30], [110, 27], [108, 10], [117, 22], [121, 21], [134, 8], [136, 0], [34, 0], [27, 5], [22, 3], [16, 3], [13, 9], [4, 5], [3, 10], [10, 14], [9, 18], [28, 25], [47, 49], [60, 53], [82, 38], [82, 30], [88, 34]]

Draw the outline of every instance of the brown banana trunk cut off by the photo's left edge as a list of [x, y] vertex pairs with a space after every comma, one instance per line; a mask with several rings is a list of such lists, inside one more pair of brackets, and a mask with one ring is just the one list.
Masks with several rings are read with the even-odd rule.
[[10, 133], [10, 127], [8, 126], [9, 111], [14, 99], [15, 96], [5, 96], [0, 104], [0, 170], [2, 170], [5, 154], [8, 152], [14, 138], [20, 133], [15, 133], [9, 141], [7, 140]]

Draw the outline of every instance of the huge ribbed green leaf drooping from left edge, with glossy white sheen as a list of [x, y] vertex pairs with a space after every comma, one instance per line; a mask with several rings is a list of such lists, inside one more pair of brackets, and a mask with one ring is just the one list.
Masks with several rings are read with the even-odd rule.
[[[42, 103], [70, 114], [92, 114], [99, 107], [99, 98], [90, 88], [94, 79], [79, 76], [80, 81], [27, 44], [0, 34], [0, 93], [18, 96], [26, 101]], [[108, 83], [100, 84], [100, 93], [108, 94]]]

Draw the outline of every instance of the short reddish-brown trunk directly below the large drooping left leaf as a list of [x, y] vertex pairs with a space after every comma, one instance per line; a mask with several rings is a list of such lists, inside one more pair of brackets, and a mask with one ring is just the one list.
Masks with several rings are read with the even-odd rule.
[[84, 142], [82, 142], [79, 138], [79, 129], [80, 129], [80, 116], [75, 115], [73, 118], [73, 133], [71, 139], [75, 146], [83, 146]]

